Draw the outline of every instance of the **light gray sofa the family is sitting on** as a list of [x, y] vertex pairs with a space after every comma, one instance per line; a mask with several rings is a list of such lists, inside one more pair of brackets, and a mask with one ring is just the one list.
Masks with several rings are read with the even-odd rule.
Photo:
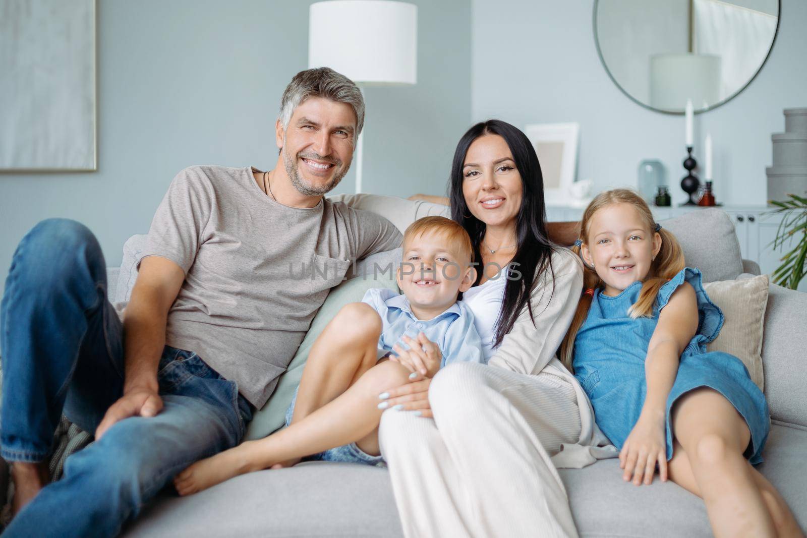
[[[373, 209], [372, 203], [352, 203]], [[445, 208], [423, 204], [385, 216], [403, 229], [435, 213]], [[733, 224], [722, 211], [696, 211], [663, 225], [678, 236], [688, 265], [699, 267], [706, 281], [759, 273], [754, 263], [742, 261]], [[110, 282], [111, 296], [122, 299], [133, 277], [113, 269]], [[784, 495], [802, 528], [807, 528], [805, 336], [807, 294], [771, 286], [762, 355], [773, 424], [759, 469]], [[622, 482], [617, 460], [560, 474], [581, 536], [711, 536], [700, 498], [671, 482], [640, 487]], [[124, 532], [128, 538], [401, 535], [385, 469], [322, 462], [251, 473], [187, 498], [165, 490]]]

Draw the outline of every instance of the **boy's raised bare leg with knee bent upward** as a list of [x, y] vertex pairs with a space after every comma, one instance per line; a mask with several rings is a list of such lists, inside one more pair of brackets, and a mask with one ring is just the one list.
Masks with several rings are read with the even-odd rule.
[[351, 302], [317, 337], [303, 368], [292, 422], [344, 393], [375, 365], [381, 318], [365, 302]]

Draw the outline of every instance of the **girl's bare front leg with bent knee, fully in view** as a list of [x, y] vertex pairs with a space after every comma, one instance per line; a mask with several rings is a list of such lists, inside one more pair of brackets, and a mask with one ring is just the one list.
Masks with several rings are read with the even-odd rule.
[[[714, 535], [776, 536], [751, 465], [742, 455], [751, 432], [734, 406], [715, 390], [692, 390], [675, 405], [672, 423]], [[675, 464], [671, 478], [684, 486], [689, 477]]]

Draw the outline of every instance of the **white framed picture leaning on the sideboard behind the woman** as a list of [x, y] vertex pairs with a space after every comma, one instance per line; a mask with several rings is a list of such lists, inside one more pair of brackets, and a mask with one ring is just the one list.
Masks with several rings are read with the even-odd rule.
[[571, 184], [577, 173], [579, 123], [535, 123], [525, 127], [541, 162], [546, 202], [571, 198]]

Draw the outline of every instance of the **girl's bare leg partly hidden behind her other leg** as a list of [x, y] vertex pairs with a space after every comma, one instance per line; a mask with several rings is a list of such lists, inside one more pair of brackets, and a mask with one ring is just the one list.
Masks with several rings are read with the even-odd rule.
[[[670, 480], [683, 487], [685, 490], [688, 490], [690, 493], [702, 497], [703, 495], [700, 494], [700, 488], [695, 480], [695, 475], [692, 474], [692, 465], [689, 464], [689, 457], [687, 453], [684, 452], [684, 448], [681, 447], [678, 440], [675, 440], [673, 450], [673, 456], [671, 460], [667, 462], [667, 473], [669, 474]], [[773, 525], [776, 528], [776, 536], [803, 538], [804, 534], [799, 528], [796, 517], [790, 511], [788, 503], [785, 502], [779, 491], [776, 490], [771, 482], [768, 482], [767, 478], [765, 478], [762, 473], [754, 469], [751, 464], [748, 464], [748, 466], [751, 467], [754, 482], [762, 494], [765, 507], [767, 507], [771, 519], [773, 519]]]

